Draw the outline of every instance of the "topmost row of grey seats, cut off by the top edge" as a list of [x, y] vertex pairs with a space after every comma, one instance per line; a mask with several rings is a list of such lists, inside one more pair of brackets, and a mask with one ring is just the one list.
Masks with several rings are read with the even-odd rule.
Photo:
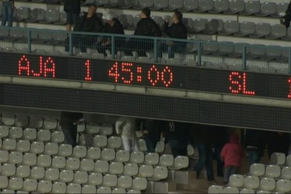
[[[29, 1], [29, 0], [22, 0]], [[44, 2], [45, 0], [32, 0]], [[60, 0], [46, 0], [47, 3], [59, 3]], [[62, 2], [62, 1], [61, 1]], [[148, 7], [151, 10], [196, 12], [196, 13], [224, 13], [255, 16], [281, 17], [285, 14], [288, 3], [262, 2], [258, 0], [86, 0], [84, 5], [94, 3], [97, 6], [119, 7], [122, 9], [143, 9]]]

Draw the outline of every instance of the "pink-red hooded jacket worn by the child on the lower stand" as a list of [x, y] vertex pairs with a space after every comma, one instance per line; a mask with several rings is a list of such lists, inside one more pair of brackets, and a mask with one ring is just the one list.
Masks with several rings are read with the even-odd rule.
[[242, 145], [239, 144], [239, 136], [232, 133], [227, 143], [220, 153], [221, 160], [225, 162], [225, 166], [242, 166]]

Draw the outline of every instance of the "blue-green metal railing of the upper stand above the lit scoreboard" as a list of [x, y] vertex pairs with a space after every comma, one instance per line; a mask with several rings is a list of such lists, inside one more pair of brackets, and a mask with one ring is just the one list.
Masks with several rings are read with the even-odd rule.
[[291, 73], [291, 47], [15, 27], [0, 38], [6, 51]]

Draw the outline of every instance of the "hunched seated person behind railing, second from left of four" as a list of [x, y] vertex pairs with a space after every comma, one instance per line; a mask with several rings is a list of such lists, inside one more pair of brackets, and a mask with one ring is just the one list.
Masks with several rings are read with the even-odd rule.
[[[107, 14], [103, 16], [105, 20], [104, 33], [124, 34], [123, 26], [120, 21], [113, 14]], [[124, 43], [123, 37], [115, 37], [115, 53], [122, 47]], [[111, 51], [111, 37], [105, 37], [98, 45], [98, 52], [106, 55], [106, 50]]]

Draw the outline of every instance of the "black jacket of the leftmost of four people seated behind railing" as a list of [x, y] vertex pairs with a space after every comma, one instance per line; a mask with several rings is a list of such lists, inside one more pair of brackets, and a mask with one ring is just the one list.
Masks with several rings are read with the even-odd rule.
[[77, 21], [77, 24], [74, 27], [76, 32], [102, 32], [103, 23], [101, 19], [95, 14], [94, 16], [87, 18], [88, 13], [84, 13], [84, 16], [81, 16]]

